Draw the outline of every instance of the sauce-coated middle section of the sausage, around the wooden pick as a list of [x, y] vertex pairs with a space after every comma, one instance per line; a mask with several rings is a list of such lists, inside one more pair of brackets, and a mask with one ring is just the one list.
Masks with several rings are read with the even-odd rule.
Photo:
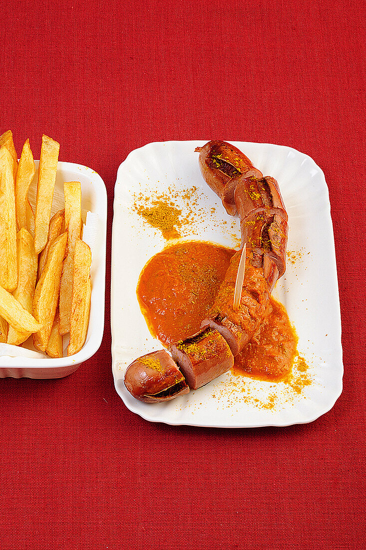
[[[265, 315], [270, 292], [264, 277], [263, 258], [247, 251], [246, 268], [239, 309], [234, 309], [234, 293], [241, 250], [231, 259], [225, 279], [201, 328], [216, 329], [228, 342], [235, 356], [258, 330]], [[253, 263], [261, 267], [254, 267]]]

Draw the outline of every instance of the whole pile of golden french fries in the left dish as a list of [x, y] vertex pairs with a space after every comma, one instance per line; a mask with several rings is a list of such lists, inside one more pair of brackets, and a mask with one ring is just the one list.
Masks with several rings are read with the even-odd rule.
[[[36, 167], [29, 140], [19, 164], [12, 131], [0, 136], [0, 342], [62, 357], [85, 343], [91, 250], [81, 239], [81, 184], [64, 184], [65, 207], [51, 218], [59, 144], [42, 136], [35, 211], [28, 191]], [[50, 219], [51, 218], [51, 219]]]

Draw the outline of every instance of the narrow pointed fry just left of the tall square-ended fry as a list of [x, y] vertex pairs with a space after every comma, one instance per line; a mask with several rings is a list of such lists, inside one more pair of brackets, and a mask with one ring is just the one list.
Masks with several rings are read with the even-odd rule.
[[27, 193], [35, 172], [36, 166], [29, 146], [29, 139], [27, 139], [21, 152], [18, 171], [15, 177], [15, 213], [18, 229], [22, 227], [27, 228], [25, 216], [26, 205], [29, 204]]

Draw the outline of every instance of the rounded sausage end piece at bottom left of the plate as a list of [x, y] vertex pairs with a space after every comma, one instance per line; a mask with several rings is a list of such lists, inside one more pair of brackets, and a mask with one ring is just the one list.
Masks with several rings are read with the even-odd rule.
[[189, 393], [190, 388], [165, 350], [138, 357], [125, 374], [127, 390], [139, 401], [158, 403]]

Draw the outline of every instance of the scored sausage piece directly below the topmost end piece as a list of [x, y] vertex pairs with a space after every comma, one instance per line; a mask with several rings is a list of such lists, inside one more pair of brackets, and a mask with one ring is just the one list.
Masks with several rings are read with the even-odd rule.
[[288, 219], [278, 182], [271, 176], [241, 177], [235, 186], [234, 200], [241, 222], [258, 212], [266, 217], [278, 214]]

